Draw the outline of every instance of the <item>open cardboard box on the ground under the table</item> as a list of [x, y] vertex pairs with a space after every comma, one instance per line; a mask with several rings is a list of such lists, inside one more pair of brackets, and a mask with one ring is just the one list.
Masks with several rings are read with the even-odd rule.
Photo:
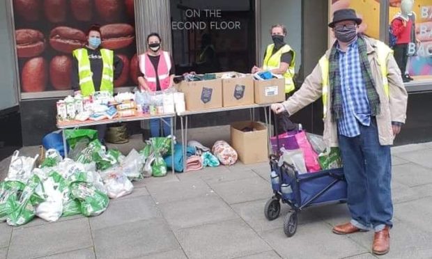
[[[246, 127], [254, 129], [243, 132]], [[231, 125], [231, 145], [243, 164], [268, 161], [267, 127], [262, 123], [245, 121]]]

